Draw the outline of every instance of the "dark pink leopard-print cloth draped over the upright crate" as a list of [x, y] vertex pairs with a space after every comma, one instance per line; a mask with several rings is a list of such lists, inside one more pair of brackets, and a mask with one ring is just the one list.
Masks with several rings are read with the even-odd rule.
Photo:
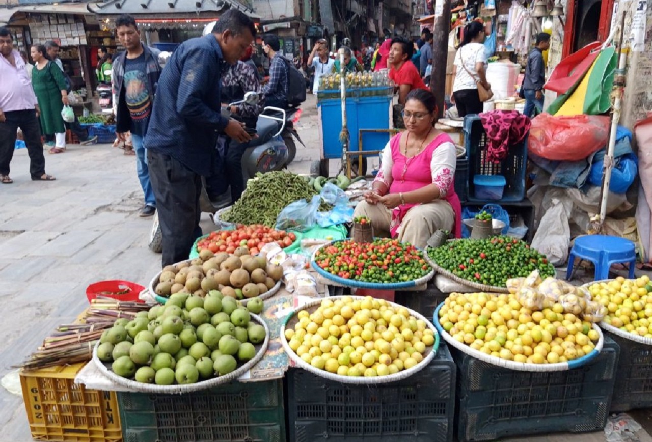
[[492, 163], [507, 158], [509, 146], [523, 141], [531, 126], [530, 119], [515, 110], [483, 112], [480, 119], [488, 139], [486, 160]]

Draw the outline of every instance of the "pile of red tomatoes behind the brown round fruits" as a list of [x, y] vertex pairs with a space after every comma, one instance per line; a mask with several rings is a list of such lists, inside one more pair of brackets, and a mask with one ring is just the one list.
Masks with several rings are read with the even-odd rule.
[[285, 230], [274, 230], [262, 224], [244, 226], [237, 224], [235, 230], [217, 230], [197, 243], [197, 251], [208, 249], [211, 252], [233, 253], [238, 247], [246, 247], [252, 255], [258, 254], [265, 244], [276, 243], [281, 248], [291, 246], [297, 235]]

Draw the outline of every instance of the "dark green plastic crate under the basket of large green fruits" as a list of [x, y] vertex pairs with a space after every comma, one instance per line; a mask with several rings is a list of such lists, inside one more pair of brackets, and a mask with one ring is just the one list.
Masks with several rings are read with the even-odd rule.
[[187, 394], [119, 392], [125, 442], [284, 442], [283, 381]]

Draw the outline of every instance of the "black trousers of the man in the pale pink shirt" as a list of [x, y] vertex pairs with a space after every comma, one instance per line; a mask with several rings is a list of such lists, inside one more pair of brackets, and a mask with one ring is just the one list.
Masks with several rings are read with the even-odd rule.
[[20, 128], [29, 155], [29, 175], [32, 178], [41, 177], [45, 173], [45, 157], [36, 111], [8, 111], [5, 112], [5, 119], [5, 123], [0, 123], [0, 175], [9, 175], [9, 164], [16, 148], [16, 131]]

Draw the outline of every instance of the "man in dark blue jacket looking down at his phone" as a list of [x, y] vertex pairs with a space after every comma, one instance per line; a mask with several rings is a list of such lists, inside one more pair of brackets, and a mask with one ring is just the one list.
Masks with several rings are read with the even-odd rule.
[[188, 258], [201, 235], [201, 176], [213, 173], [217, 136], [240, 143], [243, 124], [221, 115], [221, 77], [256, 35], [243, 12], [230, 9], [213, 33], [192, 38], [170, 57], [158, 81], [145, 148], [163, 237], [164, 266]]

